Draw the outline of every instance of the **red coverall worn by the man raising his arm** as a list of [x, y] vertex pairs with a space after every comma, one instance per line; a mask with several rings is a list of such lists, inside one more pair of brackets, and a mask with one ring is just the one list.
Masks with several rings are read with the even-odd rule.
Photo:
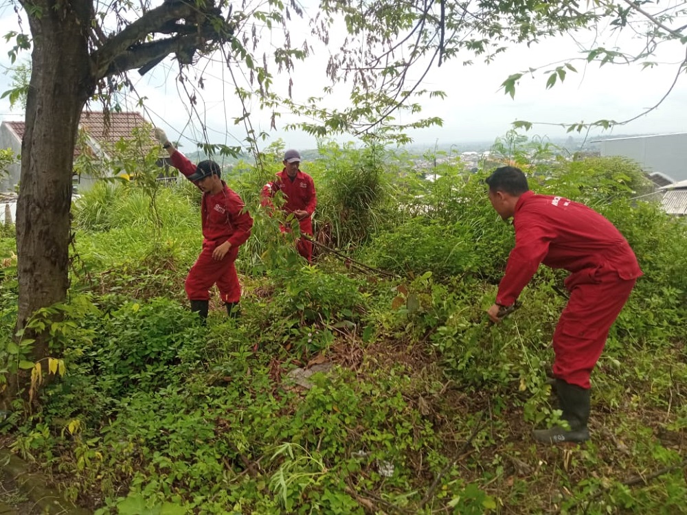
[[[172, 166], [188, 177], [196, 171], [196, 165], [177, 151], [172, 154]], [[189, 300], [209, 300], [210, 288], [217, 284], [223, 302], [238, 302], [241, 286], [236, 274], [238, 247], [251, 236], [253, 218], [243, 211], [245, 204], [236, 192], [224, 184], [218, 194], [203, 193], [201, 200], [201, 225], [203, 250], [186, 277], [185, 290]], [[212, 259], [215, 247], [229, 241], [232, 247], [221, 260]]]

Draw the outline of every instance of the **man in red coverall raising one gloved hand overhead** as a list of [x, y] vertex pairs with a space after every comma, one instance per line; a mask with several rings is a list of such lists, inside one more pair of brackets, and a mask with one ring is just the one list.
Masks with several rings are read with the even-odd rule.
[[253, 218], [245, 210], [240, 196], [221, 178], [219, 165], [201, 161], [194, 165], [170, 143], [164, 130], [155, 129], [155, 137], [170, 155], [172, 166], [203, 192], [201, 226], [203, 250], [186, 277], [185, 290], [191, 310], [207, 319], [210, 288], [217, 285], [229, 317], [238, 315], [241, 286], [236, 274], [238, 247], [251, 236]]

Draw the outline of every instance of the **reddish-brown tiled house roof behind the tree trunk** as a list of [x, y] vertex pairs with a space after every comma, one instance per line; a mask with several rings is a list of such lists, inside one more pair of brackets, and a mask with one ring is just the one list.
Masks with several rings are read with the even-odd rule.
[[[109, 117], [109, 119], [108, 119]], [[9, 126], [21, 141], [26, 130], [25, 122], [3, 122]], [[135, 128], [143, 127], [147, 124], [144, 117], [139, 113], [130, 111], [123, 113], [103, 113], [102, 111], [85, 111], [81, 114], [79, 128], [85, 130], [87, 135], [95, 140], [104, 150], [112, 150], [120, 139], [131, 139], [131, 134]], [[157, 147], [157, 142], [150, 133], [150, 143], [146, 141], [141, 149], [148, 152], [151, 148]], [[92, 150], [92, 149], [90, 149]], [[82, 154], [82, 148], [77, 144], [74, 148], [74, 157]], [[166, 156], [166, 152], [164, 153]]]

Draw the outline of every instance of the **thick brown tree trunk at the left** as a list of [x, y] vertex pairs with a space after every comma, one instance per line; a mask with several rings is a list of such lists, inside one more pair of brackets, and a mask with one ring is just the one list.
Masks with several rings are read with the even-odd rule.
[[[33, 51], [16, 206], [17, 330], [36, 310], [67, 296], [74, 146], [82, 108], [94, 90], [84, 19], [91, 3], [38, 0], [25, 8]], [[48, 356], [47, 338], [31, 337], [32, 360], [41, 361]], [[27, 375], [8, 379], [0, 402], [5, 407], [27, 386]]]

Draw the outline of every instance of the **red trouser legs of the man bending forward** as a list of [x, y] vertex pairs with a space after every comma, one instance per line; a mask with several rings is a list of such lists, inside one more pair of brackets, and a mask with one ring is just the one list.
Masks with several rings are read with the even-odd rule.
[[582, 271], [566, 284], [570, 300], [553, 336], [553, 373], [571, 385], [589, 389], [589, 376], [606, 344], [609, 329], [627, 302], [637, 279], [615, 271]]

